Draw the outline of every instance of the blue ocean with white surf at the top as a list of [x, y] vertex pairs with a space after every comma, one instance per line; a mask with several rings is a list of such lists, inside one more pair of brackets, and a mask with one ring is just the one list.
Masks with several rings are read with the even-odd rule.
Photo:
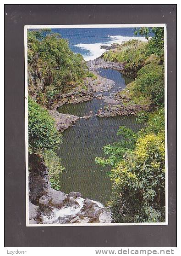
[[81, 53], [85, 60], [93, 60], [104, 53], [106, 50], [100, 49], [101, 45], [110, 46], [132, 39], [147, 41], [144, 36], [135, 36], [134, 31], [134, 28], [52, 29], [68, 39], [71, 50]]

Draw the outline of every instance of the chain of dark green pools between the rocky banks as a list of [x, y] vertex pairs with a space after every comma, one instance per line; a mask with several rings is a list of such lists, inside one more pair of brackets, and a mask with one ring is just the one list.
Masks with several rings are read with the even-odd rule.
[[[103, 70], [104, 71], [104, 70]], [[108, 76], [108, 70], [102, 71], [101, 76]], [[118, 75], [123, 86], [125, 79], [116, 70], [111, 70], [113, 80]], [[99, 72], [100, 74], [100, 72]], [[119, 87], [115, 81], [115, 87]], [[115, 87], [112, 90], [115, 90]], [[117, 88], [116, 88], [117, 89]], [[101, 105], [102, 104], [102, 105]], [[92, 101], [78, 104], [66, 104], [58, 109], [61, 113], [69, 113], [77, 116], [97, 113], [100, 107], [106, 105], [103, 100], [93, 99]], [[116, 116], [99, 118], [93, 116], [89, 119], [80, 119], [75, 126], [63, 132], [63, 144], [60, 145], [58, 155], [62, 159], [62, 165], [66, 168], [61, 175], [61, 190], [68, 193], [71, 191], [81, 192], [83, 198], [91, 198], [106, 204], [111, 196], [110, 178], [106, 172], [111, 168], [101, 167], [95, 164], [95, 157], [104, 157], [103, 146], [120, 140], [116, 136], [119, 126], [124, 125], [134, 131], [142, 128], [142, 125], [135, 124], [133, 116]]]

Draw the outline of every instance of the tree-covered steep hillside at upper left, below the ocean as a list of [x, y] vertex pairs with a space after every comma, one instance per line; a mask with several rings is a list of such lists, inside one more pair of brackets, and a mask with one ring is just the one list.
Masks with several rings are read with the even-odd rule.
[[82, 55], [71, 52], [68, 41], [60, 34], [28, 30], [27, 47], [29, 95], [39, 98], [41, 94], [42, 105], [49, 107], [55, 95], [74, 86], [87, 73], [91, 76]]

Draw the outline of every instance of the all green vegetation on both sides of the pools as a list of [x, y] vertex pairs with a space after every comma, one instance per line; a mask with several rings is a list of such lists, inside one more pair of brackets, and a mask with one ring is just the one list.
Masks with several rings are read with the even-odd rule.
[[[142, 28], [135, 33], [145, 35], [148, 42], [127, 41], [105, 52], [103, 58], [124, 63], [125, 74], [135, 79], [118, 94], [123, 104], [148, 106], [149, 112], [137, 113], [136, 122], [143, 123], [143, 129], [135, 133], [121, 126], [117, 133], [121, 139], [105, 145], [105, 157], [96, 157], [95, 161], [111, 167], [108, 175], [114, 185], [109, 206], [113, 222], [163, 222], [164, 29]], [[28, 31], [29, 156], [43, 158], [55, 189], [60, 189], [59, 175], [64, 169], [56, 154], [62, 135], [46, 108], [51, 107], [58, 94], [74, 86], [87, 90], [85, 77], [96, 79], [82, 56], [71, 52], [59, 34], [49, 29]]]

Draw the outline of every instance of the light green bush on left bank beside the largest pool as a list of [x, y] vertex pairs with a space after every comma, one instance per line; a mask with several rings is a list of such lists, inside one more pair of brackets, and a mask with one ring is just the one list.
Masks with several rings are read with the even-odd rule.
[[59, 189], [58, 178], [63, 168], [55, 150], [62, 142], [62, 135], [55, 128], [55, 120], [49, 112], [31, 97], [28, 97], [28, 139], [29, 154], [44, 158], [51, 186]]

